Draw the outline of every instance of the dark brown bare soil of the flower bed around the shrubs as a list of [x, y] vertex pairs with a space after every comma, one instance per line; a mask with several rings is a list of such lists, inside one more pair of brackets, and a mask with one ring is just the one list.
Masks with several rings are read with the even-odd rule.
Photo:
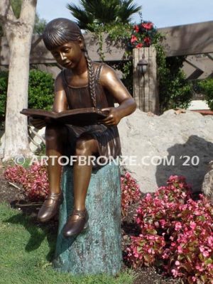
[[[4, 166], [0, 165], [0, 202], [8, 202], [11, 204], [11, 207], [15, 207], [16, 209], [22, 211], [23, 214], [30, 215], [32, 218], [32, 222], [34, 222], [37, 226], [40, 226], [37, 221], [37, 214], [40, 208], [40, 204], [36, 203], [32, 206], [25, 206], [25, 201], [23, 199], [23, 195], [21, 194], [21, 190], [18, 190], [14, 185], [9, 184], [4, 179]], [[134, 214], [136, 213], [136, 208], [138, 204], [132, 204], [129, 207], [129, 211], [126, 217], [122, 220], [121, 229], [122, 229], [122, 246], [123, 249], [126, 246], [126, 243], [129, 241], [129, 236], [137, 235], [139, 233], [139, 229], [136, 224], [133, 222]], [[48, 229], [53, 231], [58, 226], [57, 217], [55, 220], [48, 223]], [[124, 269], [128, 267], [124, 263]], [[180, 280], [165, 278], [163, 275], [160, 275], [158, 271], [153, 267], [149, 268], [140, 268], [136, 271], [136, 278], [133, 284], [178, 284], [181, 283]]]

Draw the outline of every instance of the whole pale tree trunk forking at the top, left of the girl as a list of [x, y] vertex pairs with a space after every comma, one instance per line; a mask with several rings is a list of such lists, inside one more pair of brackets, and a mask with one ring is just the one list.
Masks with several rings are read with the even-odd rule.
[[31, 155], [27, 119], [20, 111], [28, 106], [28, 75], [31, 38], [37, 0], [23, 0], [16, 18], [9, 0], [0, 4], [1, 23], [9, 43], [10, 63], [6, 101], [4, 160]]

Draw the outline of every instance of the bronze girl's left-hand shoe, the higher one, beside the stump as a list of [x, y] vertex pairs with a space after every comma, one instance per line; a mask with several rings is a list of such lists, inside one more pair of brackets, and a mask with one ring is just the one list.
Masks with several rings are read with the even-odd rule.
[[38, 212], [38, 221], [48, 222], [58, 212], [60, 204], [62, 204], [63, 195], [60, 193], [50, 193]]

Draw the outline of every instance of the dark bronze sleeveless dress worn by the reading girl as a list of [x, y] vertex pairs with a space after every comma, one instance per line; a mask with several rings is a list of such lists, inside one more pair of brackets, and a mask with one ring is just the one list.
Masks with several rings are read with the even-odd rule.
[[[99, 82], [102, 67], [103, 64], [99, 64], [94, 74], [96, 103], [98, 109], [114, 107], [114, 98]], [[62, 82], [67, 97], [68, 109], [94, 107], [92, 97], [89, 92], [89, 85], [84, 87], [70, 86], [69, 82], [67, 82], [66, 70], [62, 70]], [[89, 126], [73, 126], [66, 124], [66, 126], [68, 139], [65, 146], [65, 155], [68, 157], [70, 157], [70, 155], [75, 155], [75, 143], [77, 138], [88, 135], [97, 141], [97, 157], [104, 156], [106, 158], [116, 158], [121, 155], [121, 143], [117, 126], [107, 127], [104, 126], [104, 124], [93, 124]]]

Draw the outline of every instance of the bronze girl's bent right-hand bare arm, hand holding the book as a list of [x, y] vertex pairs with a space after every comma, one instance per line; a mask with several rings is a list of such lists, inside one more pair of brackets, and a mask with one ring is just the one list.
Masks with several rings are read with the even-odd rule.
[[109, 115], [106, 119], [102, 119], [101, 122], [107, 126], [119, 124], [119, 121], [124, 116], [128, 116], [136, 110], [136, 102], [134, 101], [133, 97], [131, 97], [131, 94], [129, 94], [119, 77], [116, 75], [116, 72], [108, 65], [104, 65], [102, 68], [100, 83], [109, 91], [116, 102], [119, 103], [119, 107], [102, 109], [108, 110]]

